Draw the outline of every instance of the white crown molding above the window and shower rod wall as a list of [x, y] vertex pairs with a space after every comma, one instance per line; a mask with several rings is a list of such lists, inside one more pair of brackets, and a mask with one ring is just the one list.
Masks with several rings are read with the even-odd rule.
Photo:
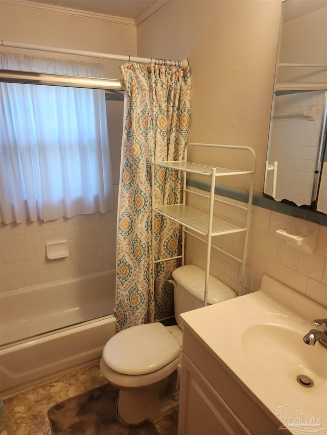
[[79, 9], [63, 8], [61, 6], [43, 5], [36, 2], [27, 2], [26, 0], [0, 0], [0, 5], [15, 6], [20, 8], [34, 9], [44, 12], [55, 12], [64, 15], [73, 15], [81, 18], [97, 19], [101, 21], [114, 22], [118, 24], [133, 25], [135, 20], [131, 18], [116, 17], [113, 15], [99, 14], [95, 12], [81, 11]]

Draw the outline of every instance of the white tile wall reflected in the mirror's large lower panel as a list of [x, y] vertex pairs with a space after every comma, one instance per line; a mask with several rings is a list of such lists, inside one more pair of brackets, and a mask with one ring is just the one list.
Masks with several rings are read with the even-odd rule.
[[[321, 90], [278, 92], [274, 97], [269, 163], [278, 162], [277, 201], [287, 198], [298, 206], [312, 201], [324, 97]], [[314, 116], [305, 116], [310, 110]], [[265, 193], [269, 194], [271, 184], [272, 171], [267, 173]]]

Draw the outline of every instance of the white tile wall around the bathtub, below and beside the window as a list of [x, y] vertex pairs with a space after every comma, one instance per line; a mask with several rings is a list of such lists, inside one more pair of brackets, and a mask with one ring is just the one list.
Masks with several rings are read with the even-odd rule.
[[[116, 214], [123, 102], [107, 101], [109, 143], [114, 184], [114, 210], [55, 221], [22, 222], [0, 226], [0, 291], [68, 276], [115, 268]], [[45, 243], [66, 239], [69, 255], [45, 257]]]

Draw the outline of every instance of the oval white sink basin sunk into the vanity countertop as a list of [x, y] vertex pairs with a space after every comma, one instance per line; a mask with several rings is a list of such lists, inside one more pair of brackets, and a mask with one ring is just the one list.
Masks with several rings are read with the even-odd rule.
[[[242, 333], [242, 346], [267, 380], [276, 383], [282, 376], [295, 384], [298, 375], [310, 377], [315, 384], [327, 379], [327, 349], [320, 343], [309, 346], [303, 335], [282, 325], [252, 325]], [[260, 355], [264, 355], [264, 361]]]

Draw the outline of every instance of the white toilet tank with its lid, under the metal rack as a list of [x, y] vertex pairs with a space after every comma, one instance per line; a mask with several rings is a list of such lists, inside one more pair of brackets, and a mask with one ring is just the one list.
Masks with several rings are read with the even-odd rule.
[[[205, 271], [194, 264], [181, 266], [172, 273], [174, 279], [175, 318], [183, 329], [180, 314], [204, 306]], [[208, 304], [222, 302], [236, 297], [237, 293], [219, 279], [209, 275]]]

